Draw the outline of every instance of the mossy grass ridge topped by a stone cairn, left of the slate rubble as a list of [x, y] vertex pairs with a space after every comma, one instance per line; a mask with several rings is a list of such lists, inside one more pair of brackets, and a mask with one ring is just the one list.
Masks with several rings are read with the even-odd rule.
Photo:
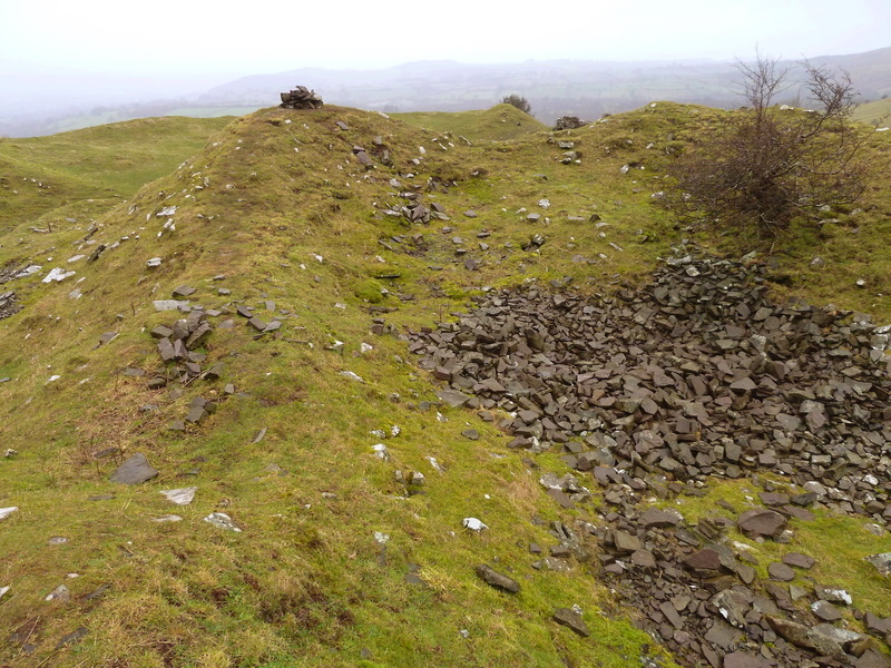
[[[284, 124], [287, 119], [294, 122]], [[339, 131], [335, 120], [351, 129]], [[417, 173], [411, 160], [419, 159], [420, 174], [407, 178], [379, 168], [365, 178], [351, 147], [378, 135], [400, 170]], [[7, 644], [8, 660], [354, 666], [363, 648], [370, 666], [430, 660], [559, 666], [567, 656], [619, 667], [638, 660], [648, 638], [627, 617], [600, 613], [608, 596], [582, 567], [570, 574], [529, 567], [526, 546], [552, 542], [547, 527], [529, 520], [557, 519], [535, 473], [516, 456], [501, 458], [508, 454], [503, 435], [473, 414], [443, 409], [448, 421], [440, 421], [435, 411], [413, 407], [433, 399], [429, 381], [407, 366], [402, 342], [369, 334], [368, 304], [356, 296], [369, 282], [385, 284], [391, 294], [414, 292], [415, 302], [403, 305], [391, 296], [383, 304], [399, 308], [400, 325], [432, 324], [463, 304], [466, 291], [480, 282], [509, 281], [502, 272], [542, 277], [557, 272], [546, 264], [562, 253], [558, 244], [571, 243], [557, 232], [571, 225], [565, 214], [552, 223], [554, 250], [546, 246], [537, 256], [519, 250], [530, 230], [518, 228], [522, 216], [513, 212], [546, 196], [562, 204], [565, 184], [511, 183], [499, 170], [515, 157], [537, 159], [535, 170], [551, 169], [554, 149], [544, 139], [493, 155], [473, 147], [434, 150], [428, 135], [378, 115], [336, 108], [263, 111], [231, 125], [217, 146], [105, 216], [97, 240], [135, 229], [140, 238], [79, 268], [81, 299], [72, 301], [65, 285], [35, 285], [26, 313], [0, 325], [8, 341], [25, 341], [4, 348], [0, 360], [3, 372], [14, 376], [3, 386], [4, 411], [30, 397], [8, 432], [10, 442], [22, 444], [20, 455], [2, 469], [2, 502], [21, 508], [0, 533], [4, 552], [13, 554], [2, 578], [14, 593], [2, 613], [12, 628], [28, 628], [36, 606], [43, 605], [38, 649], [26, 656]], [[425, 157], [419, 153], [424, 145], [430, 146]], [[480, 169], [498, 176], [470, 177]], [[444, 236], [432, 225], [417, 229], [430, 248], [425, 257], [386, 249], [379, 239], [411, 230], [375, 214], [373, 202], [392, 199], [391, 177], [423, 185], [430, 176], [466, 184], [437, 194], [453, 216], [454, 234]], [[154, 214], [170, 205], [179, 207], [176, 232], [158, 238], [161, 222]], [[565, 206], [585, 213], [581, 202]], [[471, 207], [478, 218], [461, 215]], [[477, 274], [452, 264], [451, 236], [470, 239], [482, 228], [492, 232], [492, 247], [499, 248], [487, 256], [491, 266]], [[59, 233], [60, 242], [66, 234]], [[164, 264], [149, 274], [144, 263], [155, 255]], [[431, 272], [434, 263], [446, 268]], [[382, 269], [403, 278], [375, 279]], [[159, 366], [145, 331], [169, 316], [154, 313], [151, 299], [190, 283], [199, 288], [196, 298], [223, 305], [228, 298], [216, 297], [219, 284], [209, 282], [219, 273], [239, 302], [257, 304], [267, 295], [294, 315], [278, 341], [252, 341], [243, 326], [214, 334], [210, 361], [224, 361], [224, 380], [248, 396], [224, 402], [205, 424], [178, 436], [167, 424], [182, 419], [193, 396], [214, 395], [221, 386], [189, 386], [173, 400], [121, 371]], [[109, 328], [118, 338], [92, 350]], [[345, 342], [343, 354], [324, 350], [335, 337]], [[374, 350], [355, 356], [362, 342]], [[46, 373], [26, 373], [35, 355], [49, 365]], [[48, 383], [53, 373], [61, 379]], [[140, 413], [146, 403], [159, 409]], [[461, 435], [468, 423], [482, 433], [479, 441]], [[402, 431], [384, 441], [391, 459], [383, 462], [372, 453], [380, 439], [370, 431], [394, 424]], [[253, 443], [262, 428], [266, 436]], [[112, 444], [145, 452], [161, 475], [133, 489], [108, 483], [114, 464], [97, 466], [89, 453]], [[444, 472], [432, 469], [427, 456]], [[197, 458], [206, 461], [195, 463]], [[271, 464], [290, 473], [280, 475]], [[194, 468], [200, 469], [197, 475], [180, 477]], [[425, 493], [403, 499], [394, 469], [424, 472]], [[188, 484], [199, 487], [190, 507], [173, 507], [158, 494]], [[88, 500], [104, 493], [116, 498]], [[63, 518], [57, 511], [61, 504], [71, 509]], [[214, 510], [231, 513], [244, 532], [221, 533], [204, 523]], [[151, 521], [168, 512], [184, 521]], [[469, 533], [461, 527], [464, 517], [480, 517], [491, 529]], [[385, 561], [375, 531], [390, 536]], [[48, 532], [69, 542], [50, 549]], [[473, 574], [482, 561], [512, 572], [523, 591], [515, 598], [482, 584]], [[419, 564], [427, 587], [404, 581], [411, 563]], [[80, 576], [69, 582], [75, 597], [106, 582], [114, 588], [96, 602], [41, 602], [66, 572]], [[574, 603], [586, 610], [596, 642], [549, 621], [555, 607]], [[59, 638], [79, 626], [89, 629], [88, 640], [55, 650]]]

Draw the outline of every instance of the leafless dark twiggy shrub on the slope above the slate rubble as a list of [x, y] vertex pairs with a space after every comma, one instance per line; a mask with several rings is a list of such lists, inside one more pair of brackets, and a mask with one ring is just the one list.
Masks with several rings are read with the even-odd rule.
[[814, 109], [773, 106], [793, 85], [777, 60], [738, 62], [747, 107], [672, 163], [660, 203], [682, 219], [770, 236], [796, 216], [856, 202], [868, 175], [865, 135], [851, 122], [856, 92], [844, 71], [802, 66]]

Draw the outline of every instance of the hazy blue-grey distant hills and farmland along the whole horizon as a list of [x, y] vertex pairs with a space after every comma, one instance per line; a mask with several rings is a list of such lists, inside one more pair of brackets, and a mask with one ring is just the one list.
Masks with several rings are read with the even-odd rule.
[[[891, 95], [891, 47], [811, 60], [849, 71], [864, 100]], [[789, 66], [792, 76], [800, 73], [793, 60], [781, 65]], [[70, 79], [63, 81], [69, 88], [77, 84]], [[506, 95], [520, 94], [531, 102], [536, 118], [550, 125], [560, 116], [596, 119], [652, 100], [731, 109], [742, 102], [734, 90], [738, 79], [733, 62], [715, 60], [529, 60], [497, 65], [438, 60], [379, 70], [292, 69], [243, 77], [213, 88], [195, 80], [190, 91], [179, 81], [160, 94], [163, 81], [124, 81], [114, 87], [112, 95], [107, 85], [92, 89], [98, 84], [88, 80], [76, 86], [77, 95], [63, 95], [65, 104], [60, 105], [58, 95], [47, 97], [47, 90], [59, 90], [58, 77], [19, 76], [0, 81], [0, 136], [49, 135], [149, 116], [242, 115], [276, 105], [278, 94], [294, 85], [314, 88], [330, 105], [385, 112], [488, 109]], [[799, 106], [801, 98], [800, 91], [791, 89], [779, 101]]]

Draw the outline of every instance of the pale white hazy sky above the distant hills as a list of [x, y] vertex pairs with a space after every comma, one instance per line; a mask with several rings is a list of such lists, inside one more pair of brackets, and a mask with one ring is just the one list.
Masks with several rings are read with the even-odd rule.
[[0, 76], [733, 59], [891, 46], [891, 0], [0, 0]]

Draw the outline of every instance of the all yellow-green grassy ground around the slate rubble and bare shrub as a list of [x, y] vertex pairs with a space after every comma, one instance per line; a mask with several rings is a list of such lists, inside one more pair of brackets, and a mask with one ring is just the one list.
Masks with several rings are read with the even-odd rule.
[[[481, 112], [489, 125], [473, 137], [464, 115], [403, 121], [325, 107], [0, 144], [14, 174], [52, 186], [0, 212], [0, 267], [43, 265], [2, 286], [25, 308], [0, 321], [3, 448], [18, 451], [0, 458], [0, 508], [19, 509], [0, 521], [0, 588], [10, 587], [0, 665], [675, 665], [638, 630], [640, 612], [593, 576], [593, 537], [590, 563], [532, 568], [530, 546], [556, 544], [551, 522], [581, 534], [603, 518], [559, 508], [538, 483], [566, 469], [558, 453], [532, 462], [495, 422], [439, 403], [403, 335], [452, 320], [491, 287], [634, 286], [692, 235], [736, 257], [755, 248], [787, 276], [777, 291], [887, 321], [889, 186], [878, 180], [863, 212], [836, 212], [768, 255], [738, 235], [677, 228], [652, 204], [668, 149], [726, 112], [658, 102], [551, 135], [528, 117], [511, 125], [510, 109]], [[165, 122], [183, 125], [148, 148], [137, 139]], [[187, 157], [208, 124], [217, 134]], [[512, 140], [473, 140], [508, 128]], [[456, 140], [464, 132], [472, 146]], [[883, 135], [877, 155], [891, 147]], [[574, 143], [579, 163], [560, 161], [560, 141]], [[137, 190], [156, 174], [114, 165], [141, 169], [143, 158], [170, 171]], [[633, 163], [644, 168], [623, 169]], [[101, 193], [109, 208], [90, 239], [79, 224], [51, 237], [30, 230]], [[414, 200], [400, 193], [444, 217], [409, 224], [399, 212]], [[523, 249], [536, 234], [540, 246]], [[99, 244], [96, 262], [68, 262]], [[811, 264], [817, 254], [822, 267]], [[77, 273], [41, 283], [56, 266]], [[218, 312], [193, 362], [221, 364], [218, 377], [180, 382], [158, 356], [151, 330], [185, 314], [154, 303], [180, 286], [195, 288], [192, 305]], [[260, 332], [238, 307], [281, 328]], [[156, 377], [166, 384], [150, 389]], [[199, 400], [214, 410], [177, 424]], [[109, 481], [135, 453], [158, 475]], [[421, 480], [413, 472], [423, 484], [407, 482]], [[160, 493], [189, 487], [188, 505]], [[717, 485], [711, 499], [746, 493]], [[241, 531], [206, 522], [214, 512]], [[489, 529], [464, 529], [464, 518]], [[878, 537], [854, 544], [838, 527], [821, 536], [838, 554], [888, 547]], [[819, 548], [820, 537], [805, 538]], [[754, 550], [770, 557], [770, 547]], [[520, 592], [482, 583], [483, 562]], [[856, 587], [852, 573], [838, 583]], [[61, 584], [68, 595], [47, 600]], [[572, 606], [589, 638], [552, 621]]]

